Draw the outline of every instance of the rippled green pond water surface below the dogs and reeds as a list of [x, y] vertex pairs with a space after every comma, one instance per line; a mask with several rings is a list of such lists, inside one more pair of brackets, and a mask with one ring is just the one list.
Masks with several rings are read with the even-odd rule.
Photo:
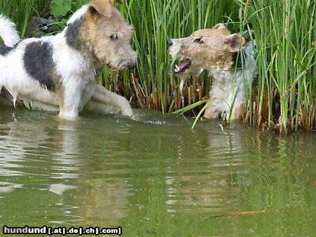
[[[138, 110], [139, 121], [0, 107], [2, 226], [123, 236], [315, 236], [316, 133]], [[2, 234], [0, 234], [2, 236]]]

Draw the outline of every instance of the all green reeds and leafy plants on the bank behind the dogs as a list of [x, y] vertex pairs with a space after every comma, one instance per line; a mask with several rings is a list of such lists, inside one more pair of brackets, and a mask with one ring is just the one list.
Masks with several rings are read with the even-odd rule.
[[[316, 129], [315, 0], [125, 1], [118, 7], [136, 32], [138, 67], [119, 73], [104, 69], [107, 88], [125, 95], [134, 106], [164, 112], [190, 106], [184, 111], [197, 114], [210, 79], [204, 74], [187, 81], [182, 100], [166, 40], [225, 22], [232, 32], [253, 29], [256, 39], [259, 79], [249, 88], [244, 122], [280, 132]], [[84, 2], [0, 0], [0, 11], [18, 22], [24, 36], [33, 15], [51, 16], [64, 25]]]

